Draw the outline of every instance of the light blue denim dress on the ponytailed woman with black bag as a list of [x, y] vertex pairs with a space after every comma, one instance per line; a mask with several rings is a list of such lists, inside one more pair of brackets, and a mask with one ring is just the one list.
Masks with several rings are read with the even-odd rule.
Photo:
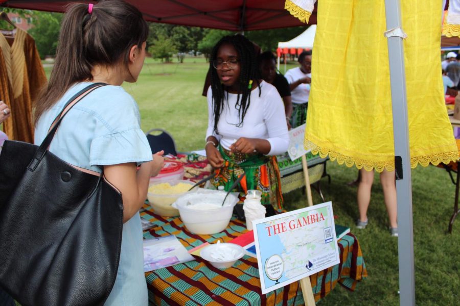
[[[35, 144], [43, 141], [67, 100], [89, 84], [74, 85], [40, 117]], [[77, 103], [62, 120], [50, 151], [67, 163], [97, 172], [102, 165], [152, 160], [137, 104], [120, 86], [98, 88]], [[123, 225], [117, 279], [105, 305], [148, 304], [143, 262], [141, 219], [136, 213]]]

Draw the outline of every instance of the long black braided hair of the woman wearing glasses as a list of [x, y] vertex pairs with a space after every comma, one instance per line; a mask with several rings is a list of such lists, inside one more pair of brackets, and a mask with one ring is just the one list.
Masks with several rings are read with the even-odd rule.
[[[214, 46], [209, 60], [211, 70], [211, 89], [213, 92], [213, 114], [214, 114], [214, 132], [218, 134], [217, 124], [219, 122], [220, 114], [222, 113], [224, 100], [228, 102], [228, 92], [225, 96], [224, 85], [221, 84], [217, 70], [213, 67], [213, 61], [217, 58], [219, 47], [223, 44], [232, 45], [239, 56], [240, 62], [240, 75], [238, 78], [238, 96], [235, 108], [238, 110], [238, 117], [240, 118], [236, 126], [243, 125], [244, 116], [250, 105], [251, 87], [249, 81], [259, 80], [260, 73], [257, 61], [257, 54], [254, 44], [242, 35], [224, 36]], [[259, 96], [261, 95], [260, 84]], [[241, 97], [240, 97], [241, 95]]]

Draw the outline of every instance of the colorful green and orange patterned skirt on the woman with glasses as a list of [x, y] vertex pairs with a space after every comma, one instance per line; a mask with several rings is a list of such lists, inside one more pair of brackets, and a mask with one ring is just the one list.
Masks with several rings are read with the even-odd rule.
[[220, 145], [219, 151], [225, 162], [222, 168], [215, 170], [217, 175], [212, 180], [214, 186], [224, 186], [225, 191], [228, 191], [240, 175], [246, 174], [240, 184], [232, 190], [232, 192], [240, 193], [241, 202], [244, 201], [247, 190], [260, 190], [263, 205], [271, 205], [274, 209], [283, 209], [277, 157], [263, 154], [233, 153], [230, 155], [230, 151]]

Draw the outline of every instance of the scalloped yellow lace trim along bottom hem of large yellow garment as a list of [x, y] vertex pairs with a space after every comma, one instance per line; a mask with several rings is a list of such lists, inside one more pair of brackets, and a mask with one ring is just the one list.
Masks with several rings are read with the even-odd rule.
[[[337, 160], [338, 164], [345, 164], [350, 168], [356, 165], [358, 169], [364, 167], [364, 169], [367, 171], [372, 171], [373, 169], [375, 169], [377, 172], [382, 172], [383, 169], [386, 169], [387, 171], [395, 170], [395, 160], [393, 158], [387, 161], [363, 160], [356, 157], [340, 154], [339, 152], [329, 148], [317, 146], [309, 140], [304, 141], [304, 146], [306, 149], [311, 149], [313, 154], [319, 154], [321, 158], [325, 158], [329, 155], [331, 161]], [[410, 158], [410, 167], [415, 168], [418, 164], [426, 167], [430, 163], [433, 165], [438, 165], [439, 163], [448, 164], [450, 162], [455, 162], [457, 159], [458, 150], [446, 151], [429, 156], [415, 156]]]

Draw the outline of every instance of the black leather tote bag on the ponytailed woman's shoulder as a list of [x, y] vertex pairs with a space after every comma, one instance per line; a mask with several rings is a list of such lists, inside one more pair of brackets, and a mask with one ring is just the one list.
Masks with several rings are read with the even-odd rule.
[[48, 151], [66, 111], [104, 85], [68, 101], [40, 146], [6, 141], [0, 154], [0, 286], [23, 306], [100, 305], [115, 282], [121, 193]]

